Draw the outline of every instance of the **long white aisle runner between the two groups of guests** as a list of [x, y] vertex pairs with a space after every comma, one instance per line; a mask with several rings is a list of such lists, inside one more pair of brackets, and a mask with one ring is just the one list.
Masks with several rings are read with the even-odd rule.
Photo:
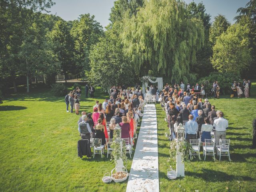
[[156, 108], [144, 107], [126, 192], [159, 192]]

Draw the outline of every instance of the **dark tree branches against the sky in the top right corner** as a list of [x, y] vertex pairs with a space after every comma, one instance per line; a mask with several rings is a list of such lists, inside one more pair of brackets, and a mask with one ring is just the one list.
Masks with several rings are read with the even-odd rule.
[[248, 16], [254, 24], [256, 23], [256, 0], [250, 0], [245, 8], [240, 7], [236, 13], [239, 13], [239, 16], [236, 16], [234, 19], [239, 21], [243, 15]]

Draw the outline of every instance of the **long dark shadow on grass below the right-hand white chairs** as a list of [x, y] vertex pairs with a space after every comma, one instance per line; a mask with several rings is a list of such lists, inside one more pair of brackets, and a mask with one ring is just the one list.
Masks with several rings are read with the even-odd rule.
[[232, 181], [232, 180], [251, 181], [252, 180], [252, 178], [249, 176], [234, 176], [234, 175], [226, 174], [221, 171], [210, 170], [205, 168], [202, 169], [202, 173], [186, 171], [185, 175], [200, 178], [207, 182], [225, 182], [225, 181]]

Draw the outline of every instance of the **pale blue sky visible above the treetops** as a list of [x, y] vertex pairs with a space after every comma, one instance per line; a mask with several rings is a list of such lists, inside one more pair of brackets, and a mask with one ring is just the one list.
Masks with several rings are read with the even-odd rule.
[[[53, 0], [56, 4], [49, 11], [64, 20], [75, 20], [80, 14], [90, 13], [105, 27], [109, 23], [109, 14], [115, 0]], [[185, 0], [190, 3], [193, 0]], [[218, 14], [226, 16], [229, 22], [234, 23], [236, 10], [245, 7], [249, 0], [194, 0], [196, 4], [203, 2], [206, 13], [211, 15], [211, 22]]]

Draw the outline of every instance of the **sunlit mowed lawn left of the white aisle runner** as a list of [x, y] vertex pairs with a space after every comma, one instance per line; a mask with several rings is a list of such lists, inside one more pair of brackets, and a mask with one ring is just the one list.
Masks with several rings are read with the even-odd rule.
[[[96, 100], [108, 97], [98, 88], [95, 99], [85, 99], [82, 91], [80, 112], [92, 112]], [[52, 96], [44, 86], [5, 98], [0, 106], [0, 191], [125, 191], [128, 180], [102, 182], [115, 167], [106, 154], [77, 156], [79, 118], [66, 112], [64, 97]], [[128, 157], [128, 170], [131, 164]]]

